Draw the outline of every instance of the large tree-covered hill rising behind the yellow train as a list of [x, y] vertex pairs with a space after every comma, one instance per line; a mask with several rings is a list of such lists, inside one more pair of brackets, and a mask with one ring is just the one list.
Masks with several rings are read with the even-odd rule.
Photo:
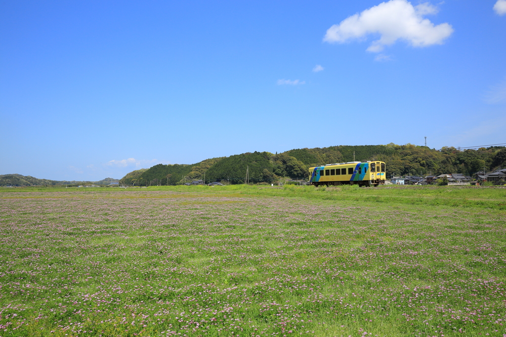
[[440, 175], [462, 173], [473, 175], [506, 165], [505, 147], [478, 150], [441, 150], [412, 144], [330, 146], [293, 149], [279, 154], [248, 152], [229, 157], [206, 159], [196, 164], [155, 165], [148, 170], [129, 173], [120, 180], [128, 185], [179, 185], [192, 180], [244, 182], [246, 170], [250, 183], [274, 183], [280, 178], [307, 178], [308, 168], [344, 161], [382, 160], [387, 163], [387, 176]]

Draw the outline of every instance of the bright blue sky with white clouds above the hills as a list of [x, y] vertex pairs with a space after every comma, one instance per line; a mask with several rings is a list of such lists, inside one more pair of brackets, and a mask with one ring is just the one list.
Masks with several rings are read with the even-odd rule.
[[0, 174], [506, 143], [506, 0], [0, 2]]

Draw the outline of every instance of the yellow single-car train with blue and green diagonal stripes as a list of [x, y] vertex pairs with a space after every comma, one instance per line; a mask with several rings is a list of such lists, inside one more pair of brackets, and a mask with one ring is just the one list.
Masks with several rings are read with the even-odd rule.
[[349, 161], [309, 168], [309, 181], [314, 186], [385, 184], [385, 162]]

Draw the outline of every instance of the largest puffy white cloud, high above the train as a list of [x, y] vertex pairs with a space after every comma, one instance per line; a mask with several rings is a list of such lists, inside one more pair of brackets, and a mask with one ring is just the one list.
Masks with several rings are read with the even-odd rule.
[[[506, 0], [499, 0], [506, 1]], [[333, 25], [327, 30], [323, 41], [345, 43], [353, 39], [364, 39], [369, 34], [379, 34], [367, 51], [379, 53], [385, 46], [393, 45], [398, 39], [413, 47], [441, 45], [451, 35], [453, 28], [448, 23], [434, 25], [423, 16], [436, 14], [438, 9], [429, 3], [417, 6], [407, 0], [390, 0], [366, 9]]]

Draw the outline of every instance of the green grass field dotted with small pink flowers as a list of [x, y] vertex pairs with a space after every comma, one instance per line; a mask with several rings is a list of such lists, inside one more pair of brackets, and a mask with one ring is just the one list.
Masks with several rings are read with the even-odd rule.
[[0, 337], [504, 336], [506, 189], [0, 189]]

